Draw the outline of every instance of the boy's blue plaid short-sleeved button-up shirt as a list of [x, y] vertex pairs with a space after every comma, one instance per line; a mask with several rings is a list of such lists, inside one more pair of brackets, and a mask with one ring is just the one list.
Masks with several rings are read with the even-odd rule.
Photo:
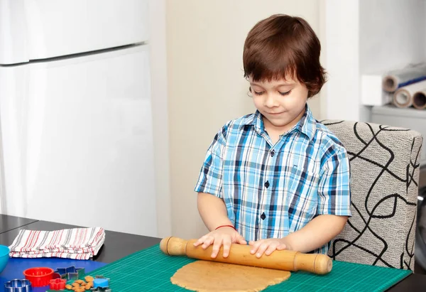
[[[344, 146], [306, 106], [275, 145], [258, 111], [227, 122], [207, 150], [195, 191], [222, 198], [249, 241], [285, 237], [317, 215], [351, 216], [349, 179]], [[326, 254], [329, 244], [312, 252]]]

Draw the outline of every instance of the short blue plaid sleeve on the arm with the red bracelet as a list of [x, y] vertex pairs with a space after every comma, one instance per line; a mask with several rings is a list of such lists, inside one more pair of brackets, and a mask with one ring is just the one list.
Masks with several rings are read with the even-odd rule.
[[195, 185], [197, 193], [210, 193], [222, 198], [223, 153], [227, 126], [220, 129], [207, 149], [200, 175]]

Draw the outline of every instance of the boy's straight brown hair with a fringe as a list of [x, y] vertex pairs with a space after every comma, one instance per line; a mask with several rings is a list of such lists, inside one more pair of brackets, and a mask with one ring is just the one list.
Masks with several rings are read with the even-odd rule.
[[303, 18], [275, 14], [256, 23], [244, 43], [244, 77], [253, 81], [297, 77], [309, 91], [320, 92], [326, 73], [320, 64], [321, 44]]

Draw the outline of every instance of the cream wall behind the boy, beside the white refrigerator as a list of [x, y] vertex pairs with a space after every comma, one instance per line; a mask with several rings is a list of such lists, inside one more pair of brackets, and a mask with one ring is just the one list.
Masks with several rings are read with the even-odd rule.
[[[243, 77], [246, 34], [273, 13], [302, 16], [318, 32], [319, 4], [316, 0], [166, 3], [172, 232], [192, 238], [206, 232], [194, 187], [207, 147], [227, 120], [254, 109]], [[310, 104], [319, 117], [320, 100]]]

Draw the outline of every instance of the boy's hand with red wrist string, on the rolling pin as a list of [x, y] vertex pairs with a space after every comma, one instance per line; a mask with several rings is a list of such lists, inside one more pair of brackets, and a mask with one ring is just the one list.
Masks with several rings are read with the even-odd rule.
[[207, 247], [213, 244], [212, 258], [214, 259], [217, 254], [219, 254], [219, 249], [222, 245], [224, 246], [224, 252], [222, 256], [224, 258], [229, 256], [229, 249], [231, 249], [231, 244], [233, 243], [247, 244], [244, 237], [236, 232], [234, 228], [221, 227], [207, 233], [203, 237], [200, 237], [200, 239], [195, 242], [194, 246], [198, 247], [200, 244], [202, 244], [202, 249], [207, 249]]

